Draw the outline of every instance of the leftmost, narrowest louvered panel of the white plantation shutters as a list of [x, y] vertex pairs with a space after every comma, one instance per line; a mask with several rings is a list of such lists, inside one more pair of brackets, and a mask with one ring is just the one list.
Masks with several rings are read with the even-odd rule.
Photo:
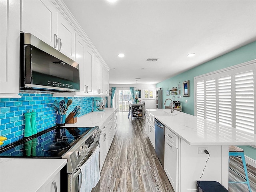
[[196, 114], [204, 118], [204, 81], [196, 83]]

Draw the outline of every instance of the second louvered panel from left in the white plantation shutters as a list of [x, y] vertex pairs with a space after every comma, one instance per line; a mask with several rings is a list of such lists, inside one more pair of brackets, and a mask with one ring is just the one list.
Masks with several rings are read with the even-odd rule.
[[206, 119], [216, 121], [216, 80], [206, 80]]

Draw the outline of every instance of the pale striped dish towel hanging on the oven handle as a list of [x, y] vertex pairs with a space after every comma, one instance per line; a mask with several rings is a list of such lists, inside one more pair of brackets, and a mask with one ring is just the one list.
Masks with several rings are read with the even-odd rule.
[[78, 179], [79, 192], [91, 192], [92, 188], [100, 180], [100, 164], [99, 164], [100, 148], [97, 146], [92, 155], [86, 162], [80, 166], [81, 173]]

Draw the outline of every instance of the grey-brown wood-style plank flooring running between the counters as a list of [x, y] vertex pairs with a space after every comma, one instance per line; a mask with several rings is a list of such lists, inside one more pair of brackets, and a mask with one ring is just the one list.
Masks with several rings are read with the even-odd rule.
[[[101, 171], [100, 192], [174, 192], [145, 132], [145, 120], [118, 113], [118, 130]], [[238, 158], [230, 166], [242, 172]], [[256, 168], [248, 166], [252, 192], [256, 192]], [[241, 179], [232, 171], [229, 178]], [[229, 184], [229, 192], [247, 192], [244, 184]]]

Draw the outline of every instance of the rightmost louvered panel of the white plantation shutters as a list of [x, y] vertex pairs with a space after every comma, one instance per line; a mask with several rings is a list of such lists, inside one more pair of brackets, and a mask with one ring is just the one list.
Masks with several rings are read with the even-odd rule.
[[236, 128], [254, 132], [254, 78], [253, 70], [235, 74]]

